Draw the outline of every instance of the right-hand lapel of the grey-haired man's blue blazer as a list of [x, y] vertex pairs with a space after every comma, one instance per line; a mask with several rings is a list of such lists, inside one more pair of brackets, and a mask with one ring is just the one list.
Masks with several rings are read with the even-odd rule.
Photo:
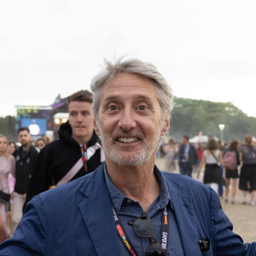
[[184, 255], [201, 255], [192, 198], [189, 195], [183, 195], [180, 184], [177, 185], [177, 189], [173, 189], [173, 186], [172, 189], [169, 188], [169, 193], [183, 243]]

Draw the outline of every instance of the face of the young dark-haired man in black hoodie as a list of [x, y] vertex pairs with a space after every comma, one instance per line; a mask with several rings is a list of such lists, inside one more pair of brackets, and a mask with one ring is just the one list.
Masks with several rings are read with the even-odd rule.
[[88, 142], [93, 135], [93, 115], [90, 102], [70, 102], [69, 124], [75, 140]]

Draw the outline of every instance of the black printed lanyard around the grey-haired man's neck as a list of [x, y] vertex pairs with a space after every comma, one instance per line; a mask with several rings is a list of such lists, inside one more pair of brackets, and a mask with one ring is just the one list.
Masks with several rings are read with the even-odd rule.
[[[130, 239], [128, 238], [124, 226], [119, 218], [119, 215], [117, 213], [116, 208], [112, 203], [112, 208], [113, 208], [113, 219], [116, 225], [116, 229], [118, 231], [119, 238], [123, 242], [123, 245], [126, 249], [126, 251], [131, 255], [131, 256], [138, 256], [135, 248], [132, 246]], [[165, 207], [162, 209], [162, 230], [161, 230], [161, 242], [160, 245], [163, 248], [164, 252], [167, 255], [167, 247], [168, 247], [168, 238], [169, 238], [169, 219], [168, 219], [168, 212], [167, 208]]]

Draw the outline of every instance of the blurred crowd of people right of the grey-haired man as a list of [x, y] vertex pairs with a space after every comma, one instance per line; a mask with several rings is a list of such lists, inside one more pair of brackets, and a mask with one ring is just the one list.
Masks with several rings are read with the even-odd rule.
[[202, 182], [223, 196], [225, 203], [236, 203], [238, 187], [242, 204], [255, 205], [256, 145], [251, 135], [246, 135], [242, 143], [235, 139], [223, 145], [214, 137], [209, 137], [207, 143], [189, 143], [189, 137], [183, 136], [182, 143], [171, 138], [160, 148], [166, 172], [180, 172], [196, 179], [202, 173]]

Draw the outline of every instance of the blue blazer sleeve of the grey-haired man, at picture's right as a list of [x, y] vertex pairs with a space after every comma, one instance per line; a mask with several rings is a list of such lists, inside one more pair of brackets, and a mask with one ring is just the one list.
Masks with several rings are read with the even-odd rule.
[[211, 190], [211, 221], [212, 232], [218, 256], [249, 256], [256, 255], [256, 242], [244, 244], [236, 235], [230, 219], [224, 214], [218, 195]]

